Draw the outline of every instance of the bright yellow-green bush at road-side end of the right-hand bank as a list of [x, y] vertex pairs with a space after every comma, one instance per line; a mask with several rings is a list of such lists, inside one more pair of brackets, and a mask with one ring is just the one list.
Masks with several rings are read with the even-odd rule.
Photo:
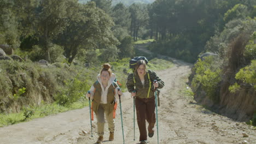
[[212, 56], [206, 57], [204, 61], [199, 59], [193, 71], [196, 73], [192, 80], [193, 90], [195, 91], [201, 85], [208, 98], [217, 100], [214, 94], [222, 80], [220, 77], [222, 70], [219, 68], [218, 62], [214, 61]]

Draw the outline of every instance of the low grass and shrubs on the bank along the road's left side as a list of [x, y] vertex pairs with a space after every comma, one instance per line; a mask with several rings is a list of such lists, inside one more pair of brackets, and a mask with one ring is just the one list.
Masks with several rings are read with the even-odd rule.
[[[116, 62], [110, 62], [113, 73], [117, 75], [118, 81], [121, 83], [120, 87], [123, 92], [127, 91], [125, 86], [127, 74], [132, 73], [129, 69], [129, 61], [130, 58], [124, 58]], [[152, 70], [167, 69], [173, 65], [172, 62], [157, 58], [152, 59], [149, 63], [149, 68]], [[5, 83], [5, 85], [0, 85], [0, 89], [2, 93], [4, 92], [4, 95], [9, 95], [8, 103], [12, 106], [8, 108], [14, 109], [14, 107], [22, 105], [20, 110], [16, 112], [6, 111], [1, 113], [0, 127], [88, 106], [88, 99], [84, 97], [85, 93], [101, 70], [101, 64], [89, 68], [85, 68], [83, 65], [71, 65], [71, 67], [67, 66], [67, 69], [64, 66], [57, 68], [51, 65], [49, 68], [34, 63], [15, 61], [0, 61], [0, 64], [6, 66], [1, 67], [2, 77], [0, 82]], [[8, 65], [16, 65], [19, 70], [8, 69]], [[65, 64], [59, 63], [59, 65]], [[27, 75], [27, 73], [30, 75]], [[20, 74], [24, 77], [19, 78]], [[44, 76], [45, 80], [41, 80], [42, 77], [40, 76]], [[5, 81], [15, 82], [16, 87], [11, 87], [10, 83]], [[51, 94], [45, 94], [45, 100], [26, 104], [26, 100], [36, 99], [36, 96], [33, 97], [30, 93], [39, 93], [38, 89], [33, 89], [33, 87], [39, 87], [36, 83], [42, 83], [42, 81], [46, 82], [46, 86], [49, 86], [45, 89], [49, 89]], [[6, 88], [14, 89], [14, 94]], [[2, 99], [7, 98], [2, 97]]]

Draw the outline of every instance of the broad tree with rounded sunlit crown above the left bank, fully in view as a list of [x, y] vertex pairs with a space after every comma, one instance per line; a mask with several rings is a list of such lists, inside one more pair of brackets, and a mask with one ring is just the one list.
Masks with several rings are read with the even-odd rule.
[[94, 2], [73, 3], [69, 8], [75, 11], [68, 14], [69, 25], [56, 39], [56, 43], [64, 47], [69, 63], [80, 50], [107, 49], [119, 44], [110, 29], [114, 24], [112, 19]]

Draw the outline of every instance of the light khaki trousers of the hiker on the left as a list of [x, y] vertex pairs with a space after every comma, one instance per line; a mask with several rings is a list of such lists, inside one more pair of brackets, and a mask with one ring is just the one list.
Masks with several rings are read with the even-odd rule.
[[103, 136], [104, 135], [104, 125], [105, 125], [105, 117], [108, 122], [108, 130], [110, 133], [114, 132], [115, 129], [115, 121], [113, 118], [113, 111], [108, 113], [108, 104], [100, 104], [98, 107], [98, 112], [97, 112], [97, 129], [98, 129], [98, 136]]

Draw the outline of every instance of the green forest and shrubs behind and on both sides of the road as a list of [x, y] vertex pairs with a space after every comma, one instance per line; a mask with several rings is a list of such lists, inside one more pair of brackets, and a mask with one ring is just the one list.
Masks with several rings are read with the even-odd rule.
[[[195, 99], [256, 125], [253, 0], [0, 0], [0, 14], [2, 127], [84, 107], [102, 63], [125, 89], [129, 59], [169, 67], [152, 59], [158, 54], [196, 62], [188, 82]], [[135, 49], [142, 40], [154, 56]], [[218, 57], [201, 61], [204, 52]]]

